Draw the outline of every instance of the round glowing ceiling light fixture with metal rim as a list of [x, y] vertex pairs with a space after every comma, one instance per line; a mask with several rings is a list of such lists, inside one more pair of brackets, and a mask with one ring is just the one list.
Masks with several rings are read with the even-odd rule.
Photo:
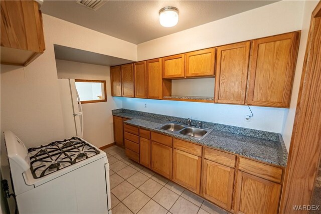
[[179, 9], [165, 7], [159, 10], [159, 23], [166, 28], [176, 26], [179, 22]]

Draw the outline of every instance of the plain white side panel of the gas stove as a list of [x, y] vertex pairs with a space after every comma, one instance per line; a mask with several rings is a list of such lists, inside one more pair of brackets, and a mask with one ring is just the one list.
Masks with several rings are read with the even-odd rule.
[[62, 176], [17, 195], [19, 213], [108, 213], [110, 193], [106, 200], [106, 189], [103, 188], [107, 184], [105, 158], [83, 163]]

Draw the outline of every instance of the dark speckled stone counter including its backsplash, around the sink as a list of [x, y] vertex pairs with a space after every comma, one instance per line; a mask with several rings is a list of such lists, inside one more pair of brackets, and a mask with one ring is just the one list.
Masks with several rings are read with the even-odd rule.
[[[213, 131], [202, 140], [197, 140], [186, 135], [159, 129], [162, 124], [170, 121], [186, 124], [187, 119], [185, 118], [151, 114], [127, 109], [113, 110], [112, 114], [115, 116], [129, 118], [131, 120], [127, 120], [125, 123], [153, 132], [166, 134], [267, 163], [283, 167], [286, 166], [287, 151], [281, 134], [278, 133], [202, 121], [203, 127], [211, 128]], [[197, 122], [198, 121], [192, 121], [192, 125], [196, 125]]]

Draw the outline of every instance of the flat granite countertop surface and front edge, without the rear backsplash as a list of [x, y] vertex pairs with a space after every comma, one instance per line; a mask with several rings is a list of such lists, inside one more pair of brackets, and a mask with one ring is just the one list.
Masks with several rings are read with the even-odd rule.
[[153, 132], [166, 134], [175, 138], [188, 140], [278, 166], [286, 166], [287, 151], [280, 134], [276, 134], [276, 136], [278, 135], [278, 139], [268, 140], [213, 129], [205, 138], [198, 140], [189, 136], [159, 129], [162, 124], [170, 122], [170, 120], [166, 120], [166, 116], [165, 118], [151, 118], [128, 112], [113, 112], [113, 115], [129, 118], [130, 120], [125, 121], [125, 123]]

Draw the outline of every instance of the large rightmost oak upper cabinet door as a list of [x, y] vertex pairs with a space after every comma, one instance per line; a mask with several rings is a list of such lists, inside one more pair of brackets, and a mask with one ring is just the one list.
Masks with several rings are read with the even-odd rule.
[[299, 33], [253, 41], [247, 104], [289, 107]]

